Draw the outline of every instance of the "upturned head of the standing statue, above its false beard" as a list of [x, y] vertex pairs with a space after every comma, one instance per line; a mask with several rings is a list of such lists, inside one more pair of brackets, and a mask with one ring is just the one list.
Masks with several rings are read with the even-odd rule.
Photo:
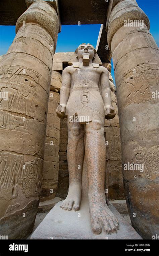
[[80, 44], [76, 49], [76, 52], [77, 52], [76, 58], [78, 58], [78, 60], [83, 58], [85, 54], [89, 56], [89, 59], [94, 60], [95, 54], [97, 53], [94, 46], [90, 43]]

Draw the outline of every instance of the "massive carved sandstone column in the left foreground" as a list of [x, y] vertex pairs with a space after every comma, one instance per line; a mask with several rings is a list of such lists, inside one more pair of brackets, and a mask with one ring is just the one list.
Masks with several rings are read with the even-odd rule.
[[58, 15], [45, 2], [33, 3], [18, 19], [16, 37], [0, 63], [1, 235], [31, 233], [42, 182], [53, 54]]

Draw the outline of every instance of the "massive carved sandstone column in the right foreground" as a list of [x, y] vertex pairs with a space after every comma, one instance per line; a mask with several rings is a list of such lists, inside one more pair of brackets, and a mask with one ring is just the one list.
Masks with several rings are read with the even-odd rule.
[[144, 165], [140, 170], [123, 169], [127, 207], [133, 227], [144, 239], [152, 239], [159, 230], [158, 98], [154, 96], [159, 58], [148, 17], [135, 0], [119, 1], [112, 9], [108, 45], [115, 71], [123, 167]]

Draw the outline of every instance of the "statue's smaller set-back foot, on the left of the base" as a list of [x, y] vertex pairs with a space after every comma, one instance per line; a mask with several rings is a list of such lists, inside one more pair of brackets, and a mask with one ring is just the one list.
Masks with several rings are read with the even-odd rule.
[[73, 207], [74, 211], [78, 211], [80, 209], [81, 204], [81, 193], [81, 183], [74, 183], [69, 185], [68, 195], [66, 199], [62, 202], [60, 208], [71, 211]]

